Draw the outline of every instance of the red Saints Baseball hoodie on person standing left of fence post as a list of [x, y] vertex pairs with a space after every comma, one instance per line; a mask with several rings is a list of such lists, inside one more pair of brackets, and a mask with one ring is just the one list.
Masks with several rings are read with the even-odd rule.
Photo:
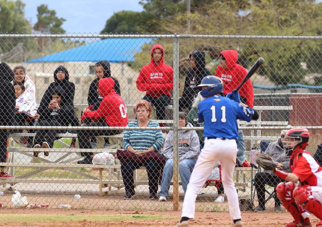
[[[155, 64], [152, 53], [159, 48], [162, 50], [162, 57], [158, 64]], [[164, 50], [160, 44], [155, 44], [151, 50], [151, 63], [143, 66], [137, 78], [136, 84], [139, 91], [146, 91], [146, 95], [159, 97], [169, 95], [173, 89], [173, 68], [163, 63]], [[180, 84], [179, 84], [180, 87]]]

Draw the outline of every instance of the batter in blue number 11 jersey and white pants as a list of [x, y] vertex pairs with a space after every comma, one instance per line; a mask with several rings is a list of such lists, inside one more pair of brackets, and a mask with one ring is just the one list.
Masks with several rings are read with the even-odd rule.
[[233, 220], [232, 226], [242, 227], [238, 195], [233, 181], [238, 139], [236, 119], [250, 122], [252, 119], [257, 120], [259, 115], [257, 111], [240, 102], [237, 90], [223, 97], [223, 81], [217, 76], [204, 77], [199, 86], [203, 89], [200, 94], [204, 97], [198, 104], [199, 122], [204, 122], [204, 148], [191, 174], [181, 221], [176, 226], [186, 227], [188, 220], [194, 218], [197, 192], [220, 161], [223, 187]]

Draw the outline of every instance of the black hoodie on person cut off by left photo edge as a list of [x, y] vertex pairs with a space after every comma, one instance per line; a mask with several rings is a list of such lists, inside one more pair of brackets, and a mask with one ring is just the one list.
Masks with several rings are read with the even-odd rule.
[[14, 72], [4, 62], [0, 63], [0, 125], [13, 125], [16, 96], [11, 81]]

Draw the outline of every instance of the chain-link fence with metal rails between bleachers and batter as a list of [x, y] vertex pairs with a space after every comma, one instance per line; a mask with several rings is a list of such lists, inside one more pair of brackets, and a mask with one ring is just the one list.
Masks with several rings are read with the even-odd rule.
[[[181, 209], [204, 143], [196, 85], [205, 75], [218, 75], [227, 94], [263, 57], [251, 84], [240, 89], [242, 102], [253, 105], [260, 119], [238, 121], [234, 172], [240, 199], [256, 206], [253, 179], [261, 195], [275, 184], [270, 179], [256, 185], [264, 180], [250, 165], [254, 147], [264, 151], [269, 142], [279, 144], [281, 131], [296, 126], [309, 129], [312, 155], [321, 143], [321, 39], [0, 35], [6, 63], [0, 65], [0, 129], [2, 147], [8, 146], [0, 160], [3, 206], [14, 206], [17, 190], [29, 203], [52, 208]], [[221, 166], [213, 165], [196, 209], [228, 211]], [[274, 199], [266, 209], [274, 210]]]

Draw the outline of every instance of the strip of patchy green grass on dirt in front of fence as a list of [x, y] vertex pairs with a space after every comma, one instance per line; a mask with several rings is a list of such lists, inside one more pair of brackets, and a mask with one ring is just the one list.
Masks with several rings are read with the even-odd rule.
[[177, 219], [175, 216], [151, 214], [110, 214], [110, 215], [75, 215], [75, 214], [1, 214], [1, 219], [6, 224], [12, 222], [69, 222], [69, 221], [127, 221], [127, 220], [162, 220]]

